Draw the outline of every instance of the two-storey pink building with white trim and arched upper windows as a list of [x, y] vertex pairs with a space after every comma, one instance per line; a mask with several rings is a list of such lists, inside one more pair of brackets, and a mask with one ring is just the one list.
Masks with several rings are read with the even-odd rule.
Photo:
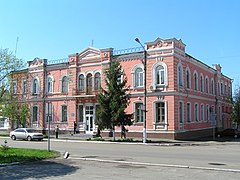
[[[231, 127], [232, 80], [219, 64], [210, 67], [185, 52], [181, 40], [160, 39], [145, 43], [147, 51], [147, 137], [190, 139]], [[96, 94], [105, 87], [104, 70], [119, 61], [127, 75], [131, 99], [126, 109], [134, 114], [128, 136], [142, 137], [144, 67], [143, 49], [86, 48], [67, 59], [34, 59], [14, 72], [13, 91], [31, 109], [27, 125], [39, 130], [57, 125], [61, 131], [96, 133]], [[119, 132], [120, 129], [116, 131]], [[108, 132], [108, 130], [103, 133]]]

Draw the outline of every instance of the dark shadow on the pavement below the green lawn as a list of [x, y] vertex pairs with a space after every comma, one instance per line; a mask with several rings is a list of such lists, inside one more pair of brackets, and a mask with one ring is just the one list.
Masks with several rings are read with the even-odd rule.
[[[71, 165], [69, 165], [71, 164]], [[0, 179], [43, 179], [62, 177], [75, 173], [79, 168], [72, 166], [69, 160], [45, 160], [18, 165], [0, 167]]]

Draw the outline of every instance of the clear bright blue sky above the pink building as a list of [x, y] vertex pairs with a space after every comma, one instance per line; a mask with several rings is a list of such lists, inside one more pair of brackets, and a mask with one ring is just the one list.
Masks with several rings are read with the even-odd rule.
[[0, 0], [0, 48], [24, 61], [67, 58], [89, 46], [115, 50], [182, 39], [186, 53], [220, 64], [240, 84], [239, 0]]

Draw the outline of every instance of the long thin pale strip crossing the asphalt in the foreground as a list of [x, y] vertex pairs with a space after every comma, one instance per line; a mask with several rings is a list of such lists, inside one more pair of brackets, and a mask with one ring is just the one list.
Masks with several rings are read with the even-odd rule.
[[116, 164], [161, 166], [161, 167], [172, 167], [172, 168], [186, 168], [186, 169], [199, 169], [199, 170], [225, 171], [225, 172], [240, 173], [240, 169], [225, 169], [225, 168], [214, 168], [214, 167], [187, 166], [187, 165], [177, 165], [177, 164], [145, 163], [145, 162], [134, 162], [134, 161], [116, 161], [116, 160], [106, 160], [106, 159], [97, 159], [97, 158], [81, 158], [81, 157], [69, 157], [69, 159], [83, 160], [83, 161], [96, 161], [96, 162], [105, 162], [105, 163], [116, 163]]

